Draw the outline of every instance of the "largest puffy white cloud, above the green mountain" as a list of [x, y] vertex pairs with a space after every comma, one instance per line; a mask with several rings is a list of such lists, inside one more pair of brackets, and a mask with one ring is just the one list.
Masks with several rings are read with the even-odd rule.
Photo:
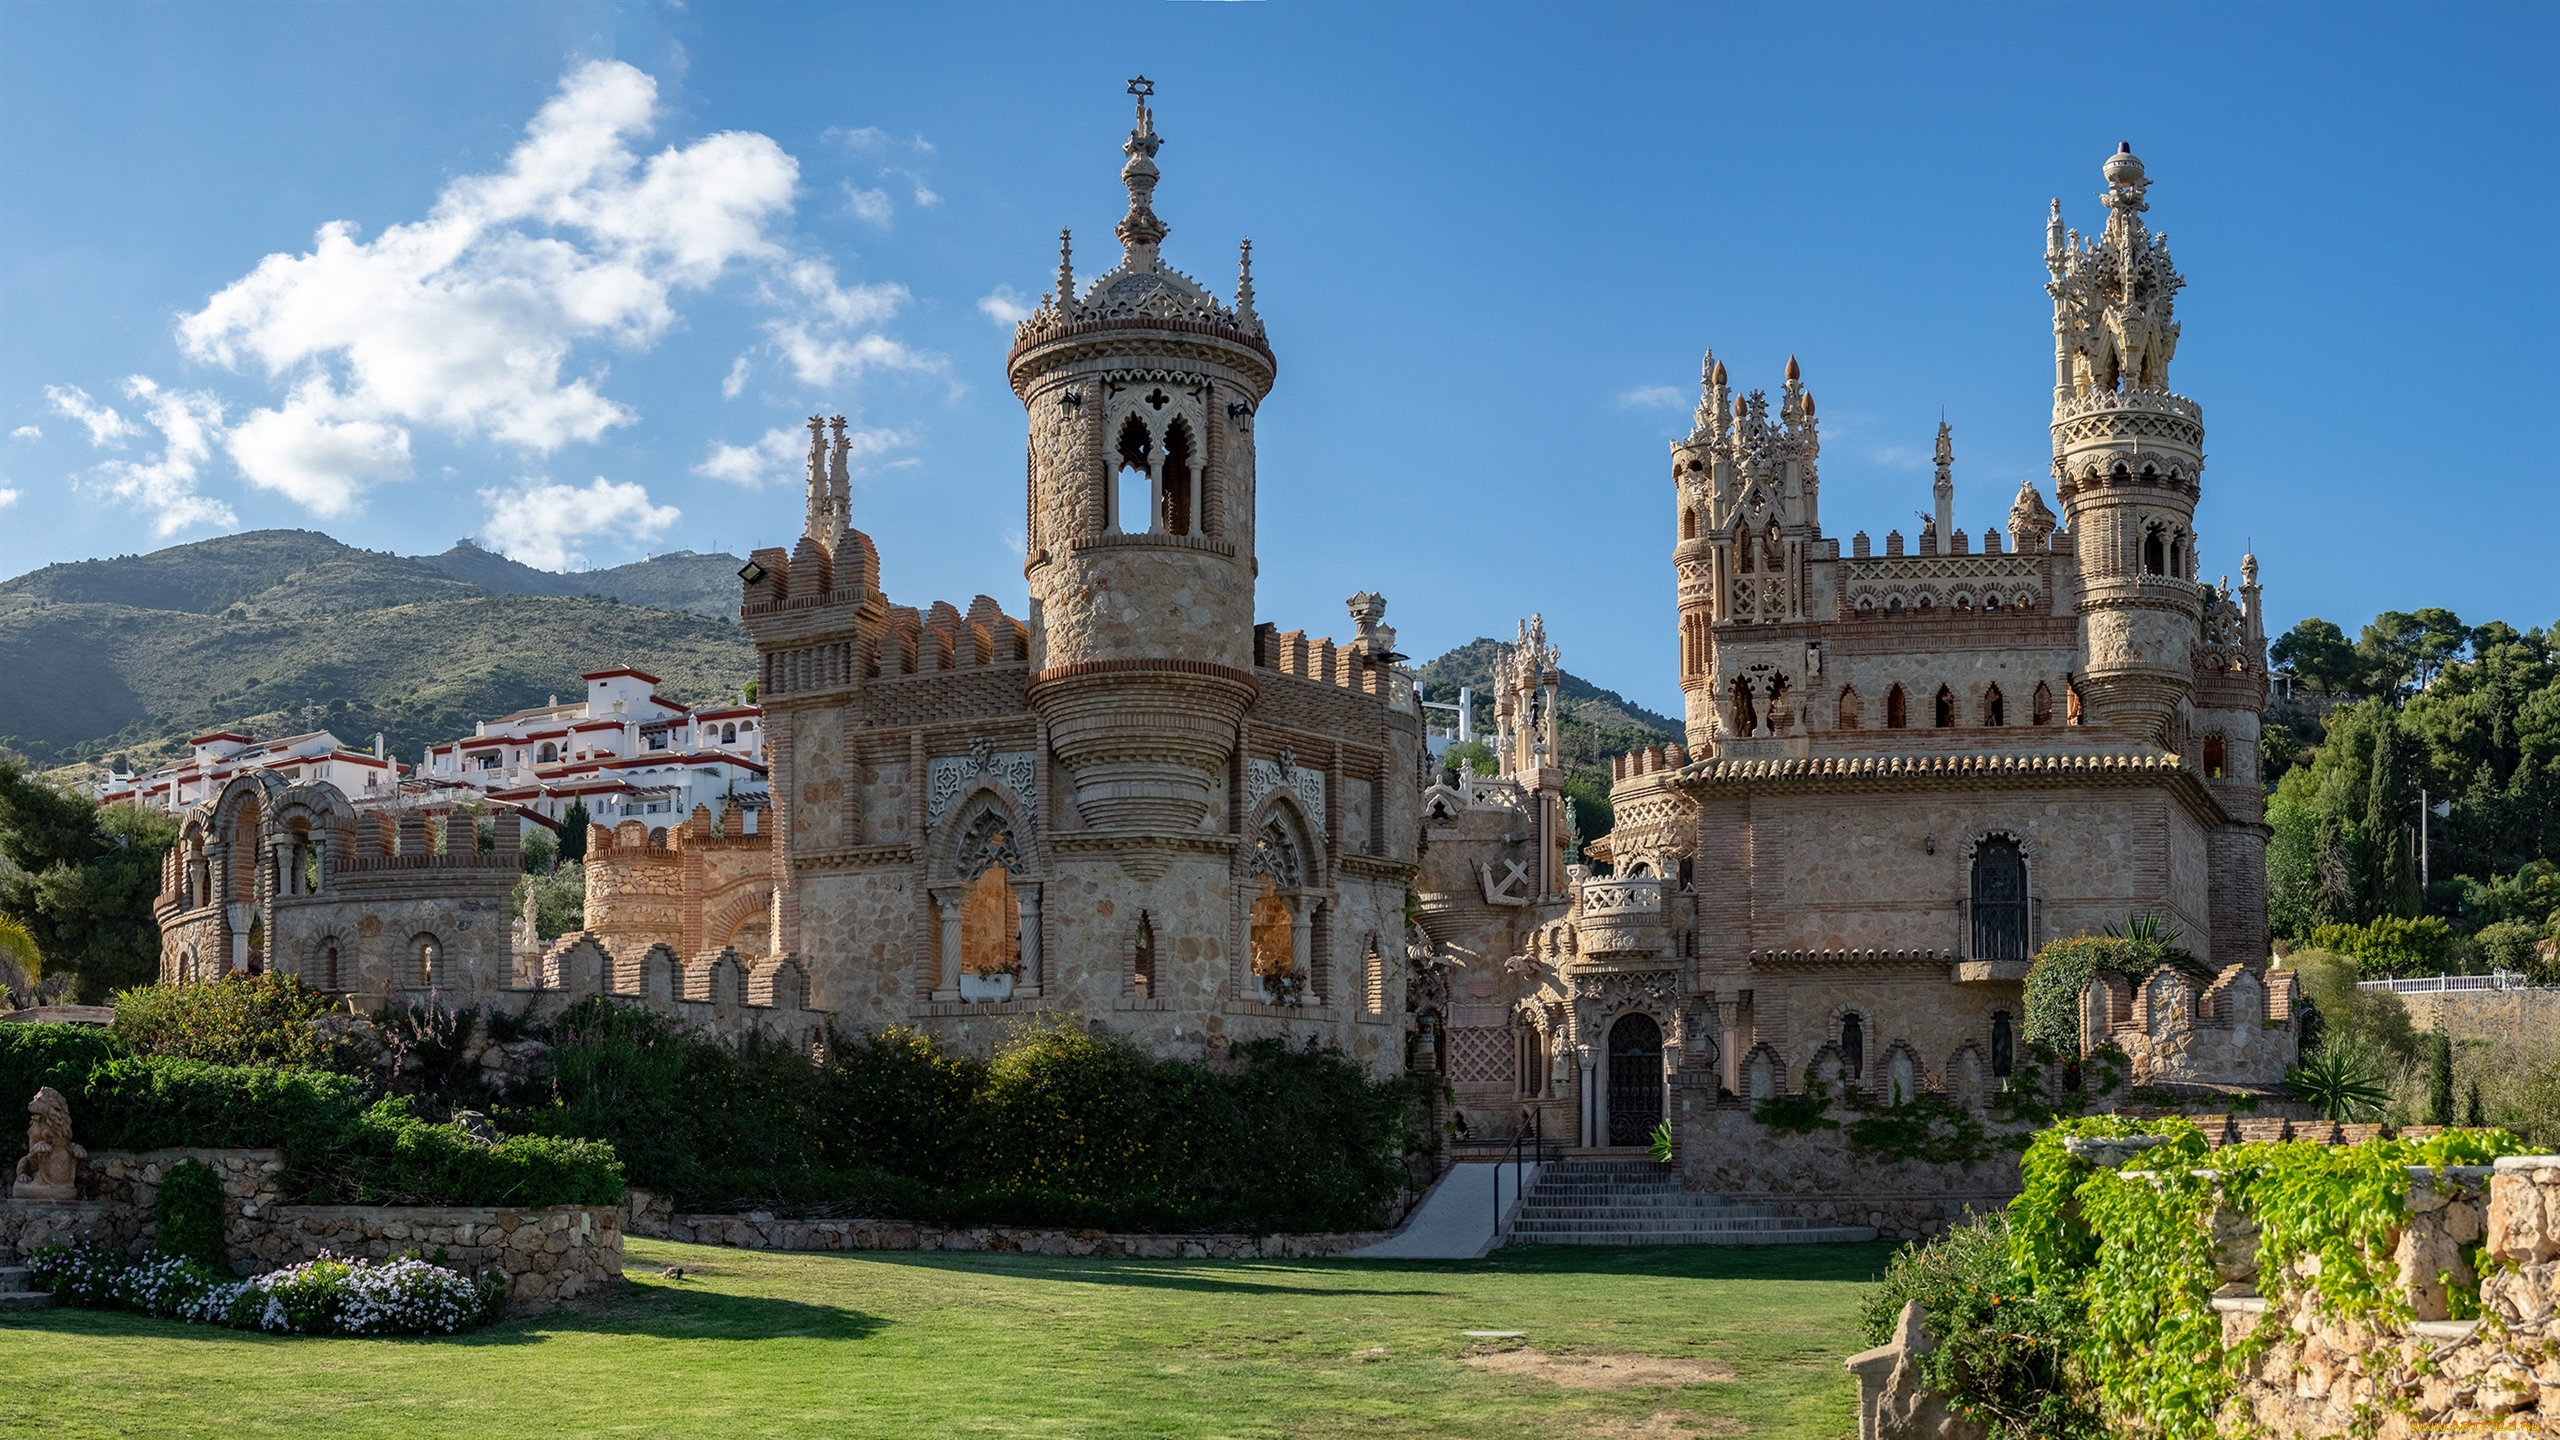
[[643, 159], [655, 108], [648, 74], [584, 64], [504, 169], [451, 182], [425, 220], [374, 241], [323, 225], [182, 318], [189, 356], [292, 382], [233, 433], [241, 471], [333, 515], [407, 474], [412, 425], [550, 454], [632, 423], [594, 374], [566, 374], [573, 346], [648, 346], [673, 292], [783, 261], [771, 228], [799, 179], [740, 131]]

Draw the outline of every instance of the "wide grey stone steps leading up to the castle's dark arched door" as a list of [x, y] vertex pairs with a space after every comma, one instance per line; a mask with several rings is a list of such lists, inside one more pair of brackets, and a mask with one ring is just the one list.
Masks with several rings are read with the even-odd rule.
[[1672, 1166], [1644, 1156], [1549, 1161], [1528, 1186], [1510, 1245], [1836, 1245], [1874, 1240], [1871, 1225], [1830, 1225], [1679, 1189]]

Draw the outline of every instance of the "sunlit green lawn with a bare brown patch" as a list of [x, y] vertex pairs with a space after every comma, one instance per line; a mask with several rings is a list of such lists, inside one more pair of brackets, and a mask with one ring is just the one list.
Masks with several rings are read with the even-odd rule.
[[[1170, 1263], [632, 1240], [625, 1297], [451, 1340], [5, 1317], [0, 1435], [1841, 1440], [1841, 1361], [1887, 1256]], [[686, 1279], [658, 1279], [668, 1263]]]

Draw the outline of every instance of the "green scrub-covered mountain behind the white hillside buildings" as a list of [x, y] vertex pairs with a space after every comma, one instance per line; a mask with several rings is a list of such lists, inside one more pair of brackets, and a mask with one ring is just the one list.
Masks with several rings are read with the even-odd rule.
[[499, 592], [448, 559], [251, 530], [28, 571], [0, 584], [0, 746], [46, 766], [110, 753], [156, 764], [205, 730], [328, 728], [351, 746], [381, 730], [415, 761], [476, 720], [576, 692], [581, 671], [632, 664], [686, 702], [735, 694], [755, 674], [735, 620], [586, 594], [612, 577], [617, 592], [701, 607], [701, 577], [737, 566], [724, 556], [550, 577], [568, 594]]

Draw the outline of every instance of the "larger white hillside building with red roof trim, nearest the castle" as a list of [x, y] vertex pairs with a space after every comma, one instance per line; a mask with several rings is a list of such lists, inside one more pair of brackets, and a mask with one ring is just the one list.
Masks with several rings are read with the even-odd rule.
[[[765, 805], [765, 728], [755, 705], [691, 710], [630, 666], [581, 676], [586, 700], [481, 720], [463, 740], [428, 746], [417, 776], [466, 784], [558, 822], [576, 802], [596, 825]], [[663, 822], [663, 820], [660, 820]]]

